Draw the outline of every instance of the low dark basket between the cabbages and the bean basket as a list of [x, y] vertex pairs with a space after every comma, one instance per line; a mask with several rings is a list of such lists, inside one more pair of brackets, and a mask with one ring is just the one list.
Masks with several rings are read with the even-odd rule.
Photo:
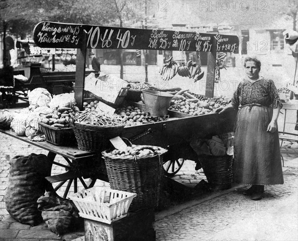
[[57, 128], [39, 123], [40, 129], [46, 136], [46, 141], [56, 146], [75, 146], [74, 130], [71, 127]]

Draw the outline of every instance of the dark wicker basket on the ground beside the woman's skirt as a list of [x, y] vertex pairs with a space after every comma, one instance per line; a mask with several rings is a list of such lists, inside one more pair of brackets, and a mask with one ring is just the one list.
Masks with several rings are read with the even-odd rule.
[[228, 189], [232, 186], [233, 156], [201, 156], [199, 161], [212, 188]]

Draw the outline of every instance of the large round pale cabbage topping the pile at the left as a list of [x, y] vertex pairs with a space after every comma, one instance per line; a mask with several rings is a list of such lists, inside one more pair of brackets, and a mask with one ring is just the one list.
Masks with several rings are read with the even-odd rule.
[[28, 100], [31, 108], [34, 105], [49, 107], [52, 96], [45, 88], [35, 88], [28, 94]]

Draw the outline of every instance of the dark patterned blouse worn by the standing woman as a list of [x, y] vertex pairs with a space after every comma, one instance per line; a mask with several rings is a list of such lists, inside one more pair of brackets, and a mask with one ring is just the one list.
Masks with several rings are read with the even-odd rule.
[[263, 106], [271, 106], [273, 109], [277, 107], [279, 102], [283, 104], [278, 95], [277, 88], [272, 80], [260, 79], [255, 82], [243, 80], [239, 83], [232, 97], [232, 106], [237, 109], [239, 105], [260, 104]]

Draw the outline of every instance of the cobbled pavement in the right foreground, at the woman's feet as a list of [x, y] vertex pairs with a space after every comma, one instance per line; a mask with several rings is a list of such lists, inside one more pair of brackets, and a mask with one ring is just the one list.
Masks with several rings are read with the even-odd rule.
[[298, 240], [298, 169], [284, 168], [284, 178], [284, 185], [266, 187], [260, 201], [242, 195], [245, 188], [240, 188], [158, 220], [156, 240]]

